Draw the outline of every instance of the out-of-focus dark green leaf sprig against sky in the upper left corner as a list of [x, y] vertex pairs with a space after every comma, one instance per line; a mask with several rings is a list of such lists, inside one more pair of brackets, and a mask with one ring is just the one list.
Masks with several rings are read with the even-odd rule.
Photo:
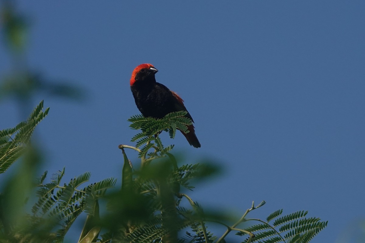
[[[1, 37], [9, 51], [9, 63], [12, 63], [11, 71], [0, 75], [0, 101], [14, 98], [24, 113], [32, 103], [32, 97], [38, 93], [52, 98], [84, 99], [84, 91], [80, 87], [66, 84], [62, 80], [49, 80], [41, 73], [30, 70], [25, 61], [29, 20], [16, 11], [15, 1], [3, 0], [0, 3]], [[22, 117], [24, 115], [26, 114], [22, 114]]]

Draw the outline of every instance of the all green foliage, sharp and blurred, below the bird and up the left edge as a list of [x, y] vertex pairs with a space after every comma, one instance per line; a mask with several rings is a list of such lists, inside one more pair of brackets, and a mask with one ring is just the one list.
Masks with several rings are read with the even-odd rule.
[[[0, 101], [14, 97], [20, 109], [26, 110], [24, 107], [32, 103], [33, 95], [39, 91], [80, 98], [80, 89], [63, 82], [49, 82], [28, 70], [24, 55], [30, 25], [26, 17], [16, 12], [14, 1], [1, 1], [0, 14], [1, 34], [14, 63], [13, 70], [0, 77]], [[306, 211], [282, 215], [280, 209], [266, 220], [247, 218], [265, 201], [257, 206], [253, 203], [238, 221], [221, 213], [221, 209], [204, 210], [187, 192], [194, 188], [193, 182], [205, 180], [219, 168], [209, 162], [181, 164], [182, 158], [170, 153], [173, 145], [164, 146], [158, 137], [163, 131], [171, 138], [176, 129], [186, 132], [192, 121], [184, 117], [184, 111], [158, 120], [142, 115], [129, 119], [130, 127], [140, 132], [131, 140], [136, 146], [119, 145], [123, 153], [121, 188], [115, 188], [115, 178], [89, 183], [89, 172], [65, 183], [65, 168], [50, 177], [45, 171], [36, 179], [42, 153], [31, 136], [48, 111], [43, 111], [42, 101], [26, 121], [0, 130], [0, 174], [8, 173], [7, 169], [18, 163], [0, 187], [1, 243], [64, 242], [66, 233], [83, 213], [87, 217], [79, 243], [220, 243], [231, 231], [246, 243], [305, 243], [327, 225], [317, 217], [306, 217]], [[125, 149], [138, 151], [139, 169], [132, 168]], [[221, 225], [226, 231], [218, 238], [208, 230], [207, 222]]]

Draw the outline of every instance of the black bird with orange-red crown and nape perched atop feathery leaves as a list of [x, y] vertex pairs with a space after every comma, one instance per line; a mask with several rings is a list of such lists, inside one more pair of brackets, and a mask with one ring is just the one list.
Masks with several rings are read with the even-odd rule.
[[[165, 85], [156, 82], [155, 74], [158, 70], [149, 63], [138, 65], [132, 72], [130, 86], [135, 103], [144, 117], [160, 119], [174, 111], [187, 111], [181, 97], [171, 91]], [[188, 111], [187, 111], [188, 112]], [[185, 115], [193, 118], [189, 112]], [[195, 148], [200, 148], [200, 142], [195, 135], [193, 125], [188, 126], [189, 133], [183, 133], [189, 144]]]

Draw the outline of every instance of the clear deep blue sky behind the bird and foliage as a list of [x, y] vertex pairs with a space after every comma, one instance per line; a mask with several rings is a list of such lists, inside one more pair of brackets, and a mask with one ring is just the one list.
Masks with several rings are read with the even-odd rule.
[[[50, 107], [37, 128], [49, 172], [119, 178], [118, 145], [133, 145], [126, 120], [139, 113], [131, 72], [152, 63], [185, 100], [201, 148], [181, 134], [164, 143], [185, 162], [208, 157], [224, 169], [189, 193], [194, 200], [238, 216], [265, 200], [255, 218], [308, 210], [329, 220], [313, 242], [356, 242], [340, 238], [365, 219], [364, 1], [17, 3], [31, 24], [30, 68], [88, 97], [34, 98]], [[3, 45], [0, 53], [3, 75], [12, 66]], [[1, 129], [19, 121], [16, 108], [0, 103], [9, 114]]]

